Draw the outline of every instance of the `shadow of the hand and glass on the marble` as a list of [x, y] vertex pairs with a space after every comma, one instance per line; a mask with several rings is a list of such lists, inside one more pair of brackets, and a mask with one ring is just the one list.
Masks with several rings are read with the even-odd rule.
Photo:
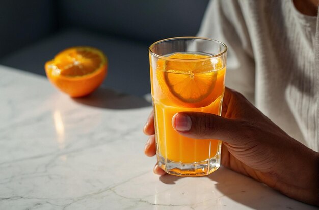
[[[178, 180], [182, 178], [188, 177], [166, 174], [159, 179], [165, 184], [172, 185], [176, 184]], [[259, 183], [224, 167], [220, 167], [208, 176], [194, 178], [209, 178], [211, 181], [214, 181], [215, 188], [212, 189], [212, 191], [218, 190], [220, 194], [222, 194], [221, 197], [216, 198], [221, 204], [223, 204], [225, 200], [223, 197], [227, 197], [226, 200], [229, 198], [253, 209], [312, 209], [313, 207], [290, 199], [263, 183]], [[189, 183], [189, 189], [192, 190], [192, 188], [194, 188], [193, 180], [190, 180]]]

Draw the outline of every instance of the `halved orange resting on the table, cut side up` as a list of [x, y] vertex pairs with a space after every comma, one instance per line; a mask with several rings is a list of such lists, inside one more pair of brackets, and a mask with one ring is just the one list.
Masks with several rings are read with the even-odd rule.
[[71, 97], [90, 94], [107, 75], [107, 58], [93, 47], [71, 47], [45, 63], [52, 84]]

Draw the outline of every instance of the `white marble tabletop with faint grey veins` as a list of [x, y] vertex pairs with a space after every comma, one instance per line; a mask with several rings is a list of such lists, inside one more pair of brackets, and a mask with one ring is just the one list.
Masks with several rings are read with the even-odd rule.
[[0, 75], [0, 209], [316, 209], [223, 167], [154, 175], [143, 99], [100, 88], [74, 100], [45, 77]]

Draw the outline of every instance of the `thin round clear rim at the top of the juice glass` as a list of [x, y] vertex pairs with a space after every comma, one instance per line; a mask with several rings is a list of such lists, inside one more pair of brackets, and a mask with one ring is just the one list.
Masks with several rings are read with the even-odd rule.
[[[180, 58], [170, 58], [170, 57], [165, 57], [165, 56], [162, 56], [162, 55], [158, 55], [156, 54], [155, 52], [153, 52], [151, 50], [151, 47], [153, 47], [154, 45], [156, 44], [159, 44], [159, 43], [162, 43], [162, 42], [166, 42], [166, 41], [171, 41], [171, 40], [179, 40], [179, 39], [201, 39], [201, 40], [207, 40], [207, 41], [212, 41], [212, 42], [215, 42], [215, 43], [218, 43], [220, 45], [222, 45], [225, 49], [221, 52], [221, 53], [218, 53], [216, 55], [210, 55], [208, 57], [205, 57], [205, 58], [193, 58], [193, 59], [180, 59]], [[215, 39], [209, 39], [209, 38], [206, 38], [206, 37], [194, 37], [194, 36], [186, 36], [186, 37], [172, 37], [172, 38], [167, 38], [167, 39], [162, 39], [162, 40], [158, 40], [156, 42], [154, 42], [153, 44], [151, 44], [148, 48], [148, 52], [155, 56], [155, 57], [158, 57], [158, 58], [161, 58], [161, 59], [164, 59], [164, 60], [167, 60], [167, 61], [206, 61], [206, 60], [209, 60], [211, 58], [214, 58], [214, 57], [220, 57], [222, 55], [224, 55], [225, 53], [227, 53], [227, 50], [228, 50], [228, 47], [226, 44], [224, 44], [223, 42], [221, 41], [218, 41], [218, 40], [215, 40]]]

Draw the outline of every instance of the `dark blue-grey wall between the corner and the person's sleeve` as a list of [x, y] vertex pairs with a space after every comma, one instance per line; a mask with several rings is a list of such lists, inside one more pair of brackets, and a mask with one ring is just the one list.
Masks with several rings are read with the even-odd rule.
[[153, 42], [196, 35], [208, 0], [59, 1], [59, 25]]

